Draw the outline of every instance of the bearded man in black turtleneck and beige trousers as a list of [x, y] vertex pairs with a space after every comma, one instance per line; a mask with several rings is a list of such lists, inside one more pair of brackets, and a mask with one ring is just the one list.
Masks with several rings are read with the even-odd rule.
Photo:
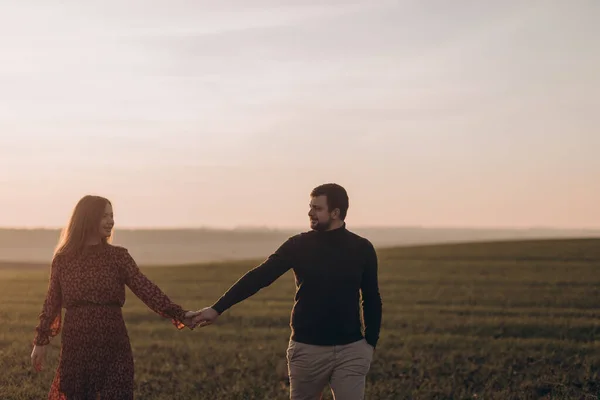
[[329, 384], [336, 399], [363, 399], [381, 325], [377, 255], [367, 239], [347, 230], [348, 194], [343, 187], [324, 184], [310, 197], [312, 231], [289, 238], [203, 309], [195, 323], [212, 324], [291, 268], [296, 296], [287, 350], [290, 398], [318, 399]]

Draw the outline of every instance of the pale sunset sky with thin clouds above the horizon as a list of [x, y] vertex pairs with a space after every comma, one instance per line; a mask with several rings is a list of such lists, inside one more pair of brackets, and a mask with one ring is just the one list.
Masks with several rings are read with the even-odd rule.
[[600, 227], [597, 0], [0, 3], [0, 226]]

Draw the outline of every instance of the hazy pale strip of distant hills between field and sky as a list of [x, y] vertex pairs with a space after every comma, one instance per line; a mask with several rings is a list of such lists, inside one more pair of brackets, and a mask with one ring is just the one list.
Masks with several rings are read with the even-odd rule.
[[[600, 238], [600, 230], [349, 228], [376, 247], [513, 239]], [[299, 231], [243, 228], [117, 230], [114, 244], [127, 247], [144, 265], [263, 258]], [[0, 261], [48, 263], [60, 231], [0, 229]]]

